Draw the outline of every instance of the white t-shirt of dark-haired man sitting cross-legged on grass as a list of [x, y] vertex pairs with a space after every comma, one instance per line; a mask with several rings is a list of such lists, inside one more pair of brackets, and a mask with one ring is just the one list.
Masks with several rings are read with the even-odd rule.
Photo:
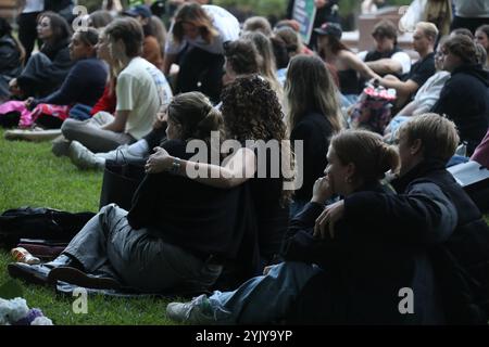
[[129, 111], [126, 133], [136, 140], [151, 131], [162, 104], [170, 102], [172, 90], [163, 74], [150, 62], [135, 57], [117, 77], [116, 111]]

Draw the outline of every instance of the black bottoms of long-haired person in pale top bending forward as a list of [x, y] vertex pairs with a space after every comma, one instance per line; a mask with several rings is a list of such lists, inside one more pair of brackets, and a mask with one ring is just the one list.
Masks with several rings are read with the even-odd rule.
[[189, 48], [180, 60], [176, 92], [200, 91], [217, 103], [223, 88], [224, 55]]

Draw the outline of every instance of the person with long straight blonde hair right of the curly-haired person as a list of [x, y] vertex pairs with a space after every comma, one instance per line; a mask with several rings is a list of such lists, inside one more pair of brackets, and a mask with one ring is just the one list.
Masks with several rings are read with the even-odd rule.
[[311, 200], [314, 182], [327, 165], [329, 138], [343, 128], [338, 94], [318, 56], [298, 55], [290, 61], [286, 80], [287, 123], [291, 143], [303, 144], [302, 158], [296, 158], [303, 183], [294, 191], [291, 217]]

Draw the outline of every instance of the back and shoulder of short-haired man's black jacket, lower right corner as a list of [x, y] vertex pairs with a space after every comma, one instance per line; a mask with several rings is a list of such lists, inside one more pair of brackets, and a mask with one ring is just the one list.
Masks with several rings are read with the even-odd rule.
[[398, 192], [408, 193], [412, 184], [419, 182], [440, 187], [457, 215], [456, 228], [448, 241], [431, 250], [443, 288], [447, 320], [455, 324], [486, 324], [489, 320], [489, 227], [443, 163], [425, 160], [393, 185]]

